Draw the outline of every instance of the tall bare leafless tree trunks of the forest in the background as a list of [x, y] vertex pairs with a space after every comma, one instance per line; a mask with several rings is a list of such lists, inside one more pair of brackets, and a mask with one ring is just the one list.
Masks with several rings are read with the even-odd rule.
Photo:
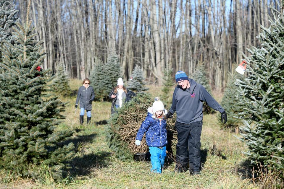
[[[25, 19], [27, 0], [13, 1]], [[261, 26], [269, 27], [268, 6], [276, 0], [34, 0], [30, 16], [44, 41], [43, 68], [64, 63], [70, 78], [88, 77], [95, 57], [119, 56], [125, 79], [136, 64], [151, 82], [165, 69], [193, 74], [204, 63], [213, 88], [225, 87], [227, 73]], [[232, 66], [233, 65], [233, 66]]]

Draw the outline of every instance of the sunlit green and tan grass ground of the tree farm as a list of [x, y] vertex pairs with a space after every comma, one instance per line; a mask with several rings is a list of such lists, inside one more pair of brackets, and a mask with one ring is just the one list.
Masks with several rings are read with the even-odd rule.
[[[72, 90], [77, 90], [81, 81], [72, 80]], [[150, 87], [153, 96], [159, 89]], [[220, 94], [220, 93], [219, 93]], [[222, 95], [215, 96], [220, 102]], [[72, 167], [67, 170], [69, 180], [55, 183], [48, 174], [43, 174], [43, 183], [30, 180], [11, 180], [9, 175], [0, 175], [0, 188], [259, 188], [241, 164], [246, 157], [241, 151], [244, 144], [227, 130], [220, 130], [220, 114], [205, 115], [201, 135], [202, 174], [190, 176], [189, 172], [175, 173], [175, 164], [167, 167], [161, 175], [150, 172], [150, 162], [122, 162], [113, 157], [105, 140], [105, 126], [110, 117], [110, 102], [93, 102], [90, 125], [79, 125], [80, 110], [75, 112], [76, 96], [63, 98], [69, 106], [63, 113], [66, 119], [58, 129], [76, 131], [68, 140], [75, 146]], [[228, 115], [230, 116], [230, 115]], [[85, 115], [86, 122], [86, 115]]]

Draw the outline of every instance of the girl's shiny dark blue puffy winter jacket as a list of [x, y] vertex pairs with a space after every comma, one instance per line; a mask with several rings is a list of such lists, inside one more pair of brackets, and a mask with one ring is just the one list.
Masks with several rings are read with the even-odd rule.
[[[164, 109], [164, 115], [167, 114], [167, 110]], [[165, 146], [167, 141], [166, 120], [161, 121], [154, 116], [153, 107], [148, 108], [148, 114], [146, 119], [142, 122], [141, 127], [138, 130], [136, 140], [142, 140], [144, 133], [146, 132], [146, 144], [147, 146], [162, 147]]]

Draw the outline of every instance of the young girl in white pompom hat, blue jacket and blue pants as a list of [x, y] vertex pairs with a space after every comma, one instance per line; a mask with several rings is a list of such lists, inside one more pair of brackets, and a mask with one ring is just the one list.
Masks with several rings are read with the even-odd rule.
[[149, 146], [151, 154], [151, 172], [155, 173], [162, 173], [161, 168], [164, 167], [166, 157], [166, 144], [168, 143], [167, 123], [164, 119], [166, 114], [167, 110], [164, 109], [163, 102], [160, 101], [159, 97], [156, 97], [153, 106], [148, 108], [148, 115], [141, 124], [135, 141], [135, 144], [139, 146], [146, 132], [146, 144]]

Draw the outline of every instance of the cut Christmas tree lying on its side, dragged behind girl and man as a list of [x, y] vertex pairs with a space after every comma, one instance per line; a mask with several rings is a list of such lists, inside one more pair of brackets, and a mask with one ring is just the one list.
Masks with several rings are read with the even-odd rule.
[[[162, 99], [161, 99], [162, 100]], [[145, 135], [140, 146], [135, 145], [135, 137], [141, 123], [147, 116], [147, 109], [152, 106], [154, 99], [150, 94], [138, 93], [130, 102], [125, 103], [117, 110], [108, 121], [106, 139], [114, 155], [121, 159], [133, 159], [135, 153], [146, 153], [149, 147], [146, 145]], [[176, 117], [167, 120], [167, 151], [172, 157], [172, 149], [175, 150], [177, 134], [174, 130]]]

